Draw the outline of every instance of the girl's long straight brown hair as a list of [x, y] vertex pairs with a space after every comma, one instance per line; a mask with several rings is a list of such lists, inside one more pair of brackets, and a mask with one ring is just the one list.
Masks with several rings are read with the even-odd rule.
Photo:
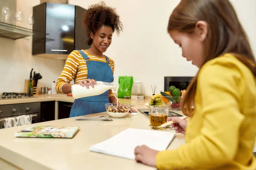
[[[205, 21], [208, 26], [208, 35], [204, 41], [204, 64], [225, 53], [231, 53], [250, 68], [256, 77], [253, 52], [229, 0], [181, 0], [169, 18], [167, 31], [193, 34], [198, 21]], [[190, 106], [194, 100], [196, 84], [197, 75], [181, 103], [183, 113], [184, 106]], [[189, 113], [185, 114], [192, 116], [191, 108], [187, 108]]]

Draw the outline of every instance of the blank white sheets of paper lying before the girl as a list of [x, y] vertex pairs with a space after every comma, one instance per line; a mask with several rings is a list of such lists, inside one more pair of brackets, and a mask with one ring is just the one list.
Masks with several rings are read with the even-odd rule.
[[154, 150], [166, 150], [175, 137], [175, 133], [128, 128], [98, 144], [90, 147], [90, 151], [104, 153], [126, 159], [135, 159], [134, 149], [145, 144]]

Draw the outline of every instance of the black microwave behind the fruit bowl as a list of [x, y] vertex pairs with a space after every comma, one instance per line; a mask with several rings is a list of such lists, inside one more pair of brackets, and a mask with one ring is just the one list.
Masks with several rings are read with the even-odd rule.
[[164, 91], [169, 91], [169, 87], [174, 85], [180, 90], [188, 88], [194, 77], [164, 77]]

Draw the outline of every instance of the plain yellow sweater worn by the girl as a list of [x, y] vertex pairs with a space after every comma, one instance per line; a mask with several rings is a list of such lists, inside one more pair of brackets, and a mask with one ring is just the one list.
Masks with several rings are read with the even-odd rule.
[[201, 68], [186, 144], [159, 152], [157, 168], [256, 170], [255, 136], [255, 77], [236, 57], [225, 54]]

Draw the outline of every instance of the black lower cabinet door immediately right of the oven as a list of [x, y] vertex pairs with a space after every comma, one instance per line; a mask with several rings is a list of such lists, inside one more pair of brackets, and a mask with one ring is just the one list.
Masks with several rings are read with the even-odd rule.
[[55, 101], [41, 102], [41, 122], [55, 120]]

